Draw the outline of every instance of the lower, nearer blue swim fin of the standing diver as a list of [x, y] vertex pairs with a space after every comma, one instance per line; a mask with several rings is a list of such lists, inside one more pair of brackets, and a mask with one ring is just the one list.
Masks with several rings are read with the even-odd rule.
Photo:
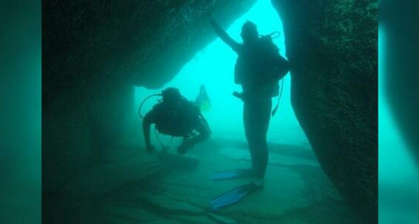
[[249, 194], [262, 189], [262, 186], [258, 186], [254, 183], [241, 185], [239, 187], [233, 188], [222, 195], [213, 198], [210, 201], [210, 205], [213, 210], [219, 210], [221, 208], [224, 208], [226, 206], [235, 204], [242, 199], [244, 199]]

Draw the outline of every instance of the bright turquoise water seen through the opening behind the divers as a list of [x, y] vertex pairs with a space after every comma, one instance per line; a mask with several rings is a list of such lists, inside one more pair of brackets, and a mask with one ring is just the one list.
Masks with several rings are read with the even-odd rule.
[[[215, 18], [216, 19], [216, 18]], [[238, 18], [227, 29], [227, 33], [236, 41], [241, 42], [240, 30], [242, 24], [250, 20], [257, 24], [259, 34], [269, 34], [280, 31], [281, 35], [274, 39], [285, 57], [284, 35], [278, 13], [272, 7], [270, 0], [259, 0], [242, 17]], [[189, 100], [195, 100], [200, 85], [204, 84], [211, 101], [210, 111], [203, 112], [210, 123], [212, 137], [232, 138], [244, 141], [242, 123], [242, 102], [232, 97], [233, 91], [240, 92], [240, 86], [233, 82], [233, 69], [236, 54], [219, 38], [198, 52], [187, 63], [178, 75], [164, 87], [158, 90], [136, 89], [135, 105], [138, 109], [141, 101], [148, 95], [159, 93], [167, 87], [177, 87]], [[268, 141], [272, 143], [308, 144], [308, 140], [299, 126], [290, 104], [289, 74], [284, 78], [284, 91], [276, 115], [271, 119]], [[273, 100], [274, 105], [277, 98]], [[143, 107], [142, 113], [149, 111], [156, 103], [150, 100]]]

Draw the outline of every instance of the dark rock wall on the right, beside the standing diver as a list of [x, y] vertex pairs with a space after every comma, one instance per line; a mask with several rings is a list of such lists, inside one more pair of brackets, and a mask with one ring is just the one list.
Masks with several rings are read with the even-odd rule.
[[292, 63], [297, 119], [338, 191], [377, 223], [378, 1], [272, 3]]

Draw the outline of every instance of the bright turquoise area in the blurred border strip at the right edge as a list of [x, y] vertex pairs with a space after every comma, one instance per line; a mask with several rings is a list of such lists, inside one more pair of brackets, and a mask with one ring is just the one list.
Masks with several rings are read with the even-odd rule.
[[379, 29], [380, 224], [419, 222], [419, 172], [386, 97], [386, 33]]

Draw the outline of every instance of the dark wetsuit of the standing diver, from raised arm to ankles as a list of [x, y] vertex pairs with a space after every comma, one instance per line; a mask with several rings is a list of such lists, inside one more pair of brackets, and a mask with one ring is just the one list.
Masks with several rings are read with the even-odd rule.
[[[261, 38], [254, 43], [240, 44], [234, 41], [215, 22], [212, 22], [217, 35], [229, 45], [238, 55], [235, 67], [235, 83], [240, 84], [243, 90], [243, 122], [246, 140], [252, 159], [252, 169], [257, 178], [264, 178], [268, 164], [268, 146], [266, 135], [269, 127], [272, 110], [272, 97], [277, 95], [275, 90], [277, 81], [266, 80], [268, 65], [263, 65], [267, 59], [261, 52]], [[288, 69], [288, 62], [279, 54], [271, 58], [280, 69]], [[270, 62], [269, 62], [270, 63]], [[265, 63], [266, 64], [266, 63]], [[283, 73], [282, 74], [286, 74]], [[275, 82], [276, 81], [276, 82]]]

